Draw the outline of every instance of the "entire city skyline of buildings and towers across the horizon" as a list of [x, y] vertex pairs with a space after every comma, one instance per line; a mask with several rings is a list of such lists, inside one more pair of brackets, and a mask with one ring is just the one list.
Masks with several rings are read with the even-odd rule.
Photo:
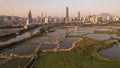
[[80, 12], [76, 12], [75, 17], [69, 16], [69, 8], [66, 7], [66, 17], [51, 17], [41, 13], [41, 16], [32, 18], [32, 12], [29, 10], [28, 17], [22, 18], [17, 16], [0, 16], [0, 27], [4, 26], [25, 26], [39, 24], [54, 24], [54, 23], [83, 23], [83, 24], [106, 24], [110, 22], [120, 22], [119, 16], [112, 15], [89, 15], [82, 17]]

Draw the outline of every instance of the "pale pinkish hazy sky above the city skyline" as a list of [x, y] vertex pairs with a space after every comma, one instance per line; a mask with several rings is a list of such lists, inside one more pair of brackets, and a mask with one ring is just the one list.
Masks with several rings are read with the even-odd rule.
[[32, 16], [65, 16], [66, 6], [70, 16], [80, 11], [82, 16], [108, 12], [120, 15], [120, 0], [0, 0], [0, 15], [27, 17], [28, 10]]

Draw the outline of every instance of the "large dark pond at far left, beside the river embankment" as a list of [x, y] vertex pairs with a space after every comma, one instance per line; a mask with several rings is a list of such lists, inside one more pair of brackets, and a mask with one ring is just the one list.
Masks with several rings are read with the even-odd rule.
[[21, 44], [15, 47], [12, 47], [10, 49], [4, 50], [0, 52], [0, 54], [3, 55], [10, 55], [10, 54], [16, 54], [16, 55], [29, 55], [33, 54], [34, 50], [37, 48], [39, 44]]

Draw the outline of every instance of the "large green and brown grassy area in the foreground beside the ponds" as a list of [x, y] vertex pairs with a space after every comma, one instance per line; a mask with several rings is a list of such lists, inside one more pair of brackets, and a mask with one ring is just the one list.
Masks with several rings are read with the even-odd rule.
[[[95, 48], [94, 45], [97, 44], [103, 45]], [[83, 38], [69, 52], [39, 52], [35, 68], [119, 68], [119, 60], [106, 59], [98, 54], [99, 50], [108, 47], [111, 45], [102, 41]]]

